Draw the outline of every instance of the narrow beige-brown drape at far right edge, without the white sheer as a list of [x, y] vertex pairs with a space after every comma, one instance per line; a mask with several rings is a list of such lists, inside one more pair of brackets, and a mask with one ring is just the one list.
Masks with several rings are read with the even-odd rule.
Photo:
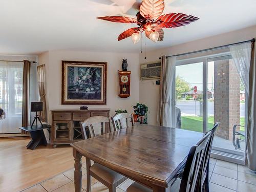
[[246, 159], [251, 170], [256, 171], [256, 50], [251, 42], [251, 62], [249, 71], [248, 125], [246, 138]]

